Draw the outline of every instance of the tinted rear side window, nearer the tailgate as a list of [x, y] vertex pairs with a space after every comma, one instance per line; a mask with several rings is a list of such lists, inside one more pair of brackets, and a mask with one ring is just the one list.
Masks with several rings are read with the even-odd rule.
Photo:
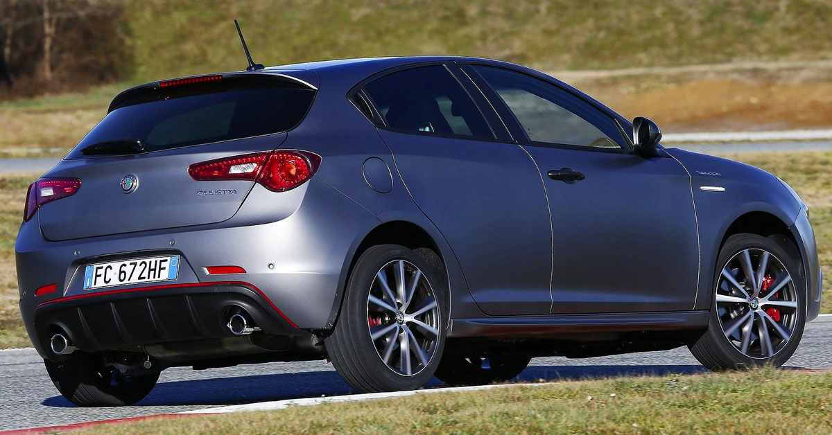
[[394, 72], [364, 90], [391, 128], [493, 138], [483, 114], [445, 67]]

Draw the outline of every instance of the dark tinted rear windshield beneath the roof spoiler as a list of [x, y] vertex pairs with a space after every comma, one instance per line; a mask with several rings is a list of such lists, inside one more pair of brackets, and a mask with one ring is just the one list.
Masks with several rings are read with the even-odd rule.
[[141, 141], [146, 151], [161, 151], [291, 130], [303, 120], [315, 93], [285, 84], [161, 92], [111, 111], [67, 158], [85, 158], [82, 149], [108, 141]]

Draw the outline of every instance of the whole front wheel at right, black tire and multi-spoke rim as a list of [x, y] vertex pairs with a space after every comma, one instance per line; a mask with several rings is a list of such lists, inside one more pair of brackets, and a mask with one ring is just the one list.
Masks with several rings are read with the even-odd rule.
[[714, 371], [780, 367], [800, 344], [806, 319], [806, 285], [795, 246], [777, 236], [731, 235], [716, 265], [708, 329], [689, 345], [691, 353]]

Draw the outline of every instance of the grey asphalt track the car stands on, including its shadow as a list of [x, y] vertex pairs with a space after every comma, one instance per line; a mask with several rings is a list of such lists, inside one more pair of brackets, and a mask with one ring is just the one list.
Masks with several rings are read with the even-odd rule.
[[[832, 369], [832, 316], [807, 325], [788, 368]], [[619, 375], [701, 373], [687, 348], [600, 358], [535, 358], [519, 381], [597, 378]], [[428, 387], [442, 385], [437, 379]], [[324, 362], [268, 363], [195, 371], [171, 368], [135, 406], [77, 408], [52, 386], [32, 349], [0, 351], [0, 430], [177, 413], [221, 405], [353, 393]]]

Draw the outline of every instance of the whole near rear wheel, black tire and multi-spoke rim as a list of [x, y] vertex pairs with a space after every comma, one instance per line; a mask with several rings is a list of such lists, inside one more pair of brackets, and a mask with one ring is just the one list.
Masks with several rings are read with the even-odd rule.
[[[339, 319], [324, 340], [335, 370], [352, 388], [363, 393], [408, 390], [433, 376], [445, 344], [448, 289], [432, 257], [438, 258], [432, 251], [416, 253], [399, 245], [373, 246], [359, 257]], [[399, 274], [409, 304], [399, 300]], [[410, 285], [417, 276], [416, 285]]]

